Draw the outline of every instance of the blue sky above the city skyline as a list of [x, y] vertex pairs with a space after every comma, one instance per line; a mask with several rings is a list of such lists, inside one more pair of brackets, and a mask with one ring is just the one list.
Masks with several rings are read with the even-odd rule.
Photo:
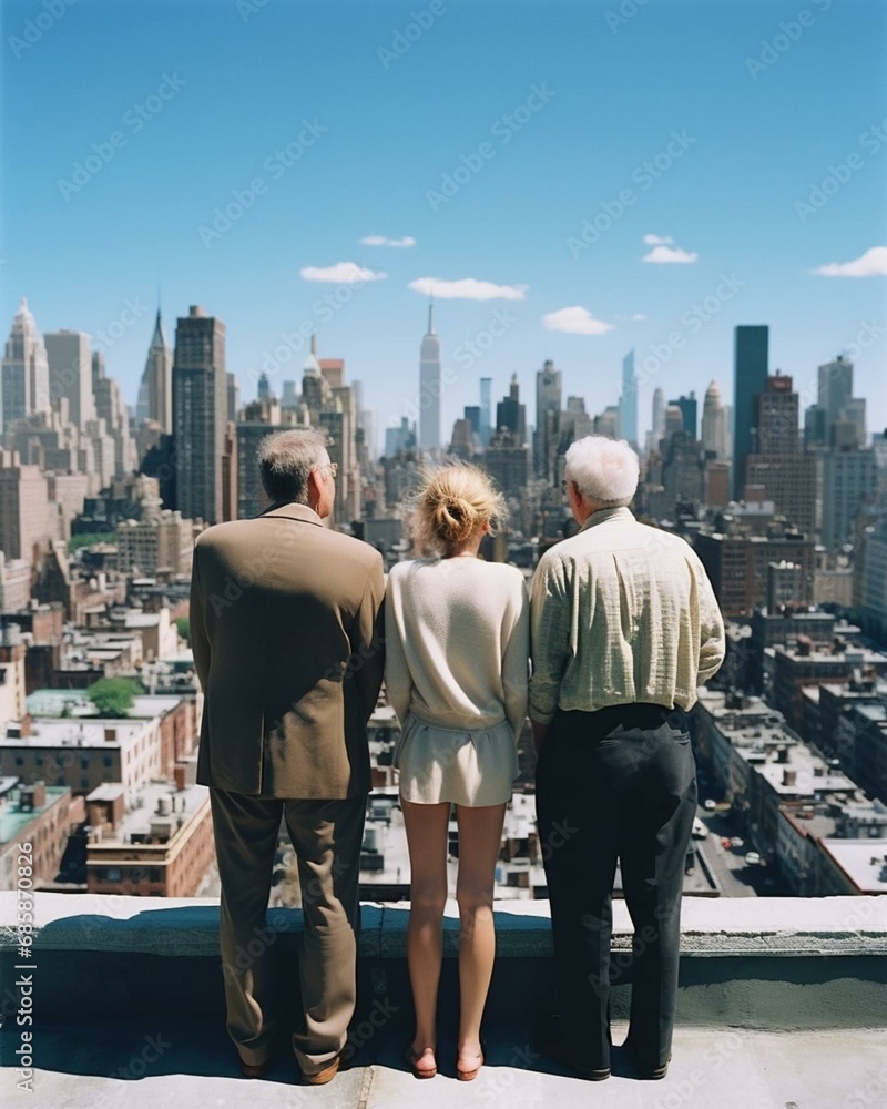
[[884, 4], [63, 6], [3, 6], [0, 327], [26, 295], [102, 334], [130, 403], [160, 283], [171, 342], [190, 304], [225, 322], [244, 397], [316, 326], [389, 425], [435, 278], [446, 439], [481, 376], [517, 373], [532, 419], [546, 358], [594, 413], [634, 347], [642, 429], [657, 385], [730, 396], [741, 323], [807, 401], [847, 349], [887, 425]]

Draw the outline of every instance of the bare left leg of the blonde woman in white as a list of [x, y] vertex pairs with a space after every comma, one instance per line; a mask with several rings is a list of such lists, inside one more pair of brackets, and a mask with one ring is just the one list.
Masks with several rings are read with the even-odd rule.
[[416, 1009], [412, 1038], [418, 1070], [437, 1067], [437, 990], [443, 957], [442, 922], [447, 903], [447, 825], [449, 802], [417, 805], [401, 797], [410, 866], [407, 964]]

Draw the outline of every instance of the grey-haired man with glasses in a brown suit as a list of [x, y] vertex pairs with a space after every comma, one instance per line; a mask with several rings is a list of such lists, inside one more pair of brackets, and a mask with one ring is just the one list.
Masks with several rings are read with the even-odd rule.
[[336, 476], [325, 444], [315, 430], [264, 440], [272, 505], [200, 536], [191, 592], [205, 694], [197, 781], [211, 787], [227, 1030], [243, 1072], [264, 1074], [275, 1032], [265, 912], [283, 814], [305, 922], [305, 1028], [293, 1048], [314, 1085], [335, 1076], [354, 1014], [366, 722], [384, 672], [381, 558], [324, 527]]

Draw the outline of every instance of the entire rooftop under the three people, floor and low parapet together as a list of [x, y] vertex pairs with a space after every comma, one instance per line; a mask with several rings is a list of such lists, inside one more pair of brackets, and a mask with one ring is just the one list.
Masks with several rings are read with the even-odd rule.
[[[298, 997], [302, 914], [271, 909], [281, 1041], [267, 1080], [245, 1085], [224, 1031], [218, 906], [38, 893], [32, 957], [18, 954], [16, 895], [0, 893], [2, 1101], [68, 1109], [207, 1103], [254, 1109], [414, 1109], [557, 1102], [563, 1109], [863, 1109], [887, 1103], [887, 897], [685, 898], [674, 1061], [655, 1087], [618, 1049], [595, 1086], [543, 1059], [532, 1027], [553, 1006], [547, 902], [496, 905], [497, 962], [485, 1016], [488, 1066], [455, 1080], [458, 914], [448, 904], [441, 977], [441, 1071], [416, 1086], [400, 1061], [411, 1032], [406, 904], [363, 905], [358, 1010], [347, 1069], [323, 1090], [296, 1086], [286, 1031]], [[626, 1029], [630, 920], [614, 905], [614, 1042]], [[17, 966], [28, 965], [19, 971]], [[32, 975], [32, 1091], [21, 1060], [18, 976]], [[7, 1091], [9, 1097], [7, 1098]], [[38, 1098], [33, 1098], [33, 1093]]]

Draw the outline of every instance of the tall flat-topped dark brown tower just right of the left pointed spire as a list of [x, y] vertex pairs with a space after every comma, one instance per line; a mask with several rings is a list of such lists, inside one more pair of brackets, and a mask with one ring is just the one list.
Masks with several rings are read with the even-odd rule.
[[192, 305], [176, 323], [173, 362], [177, 507], [186, 519], [220, 523], [224, 518], [227, 414], [225, 325]]

